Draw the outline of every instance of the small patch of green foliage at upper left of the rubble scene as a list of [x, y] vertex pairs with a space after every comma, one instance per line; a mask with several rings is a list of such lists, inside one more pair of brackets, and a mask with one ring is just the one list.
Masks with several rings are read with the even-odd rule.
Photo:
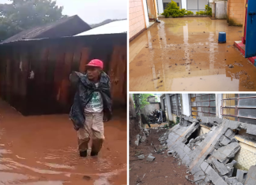
[[148, 105], [147, 98], [153, 94], [134, 94], [134, 106], [136, 115], [140, 115], [145, 105]]

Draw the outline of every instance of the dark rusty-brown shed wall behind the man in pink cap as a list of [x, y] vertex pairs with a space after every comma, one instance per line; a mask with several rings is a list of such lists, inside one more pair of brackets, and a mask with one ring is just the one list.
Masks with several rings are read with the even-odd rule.
[[85, 72], [88, 61], [99, 58], [111, 78], [114, 106], [126, 105], [126, 46], [126, 34], [0, 45], [0, 96], [24, 115], [69, 113], [75, 91], [70, 72]]

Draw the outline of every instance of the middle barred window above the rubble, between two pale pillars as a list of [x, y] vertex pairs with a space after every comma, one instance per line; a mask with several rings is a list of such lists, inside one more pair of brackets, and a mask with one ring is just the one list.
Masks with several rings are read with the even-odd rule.
[[194, 118], [216, 117], [215, 94], [190, 94], [191, 114]]

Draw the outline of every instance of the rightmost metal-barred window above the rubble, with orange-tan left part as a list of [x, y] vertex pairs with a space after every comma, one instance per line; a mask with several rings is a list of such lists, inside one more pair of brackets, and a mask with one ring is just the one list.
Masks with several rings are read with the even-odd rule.
[[222, 94], [221, 115], [224, 119], [256, 124], [256, 94]]

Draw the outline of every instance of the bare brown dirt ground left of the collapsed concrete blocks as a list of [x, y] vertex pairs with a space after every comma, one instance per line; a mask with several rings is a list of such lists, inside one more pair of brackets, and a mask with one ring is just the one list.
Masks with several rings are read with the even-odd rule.
[[[135, 129], [132, 129], [135, 130]], [[139, 146], [134, 144], [134, 135], [137, 133], [130, 133], [133, 140], [130, 141], [130, 184], [173, 184], [173, 185], [189, 185], [191, 184], [185, 176], [189, 176], [193, 180], [193, 176], [186, 173], [186, 166], [178, 165], [178, 159], [168, 156], [167, 151], [164, 154], [156, 154], [153, 152], [151, 143], [156, 146], [156, 149], [160, 147], [158, 139], [167, 130], [160, 130], [156, 132], [156, 129], [150, 129], [151, 133], [147, 140], [141, 143]], [[131, 130], [130, 130], [131, 131]], [[144, 154], [145, 159], [137, 160], [137, 155]], [[156, 159], [152, 162], [146, 161], [146, 157], [152, 154]]]

